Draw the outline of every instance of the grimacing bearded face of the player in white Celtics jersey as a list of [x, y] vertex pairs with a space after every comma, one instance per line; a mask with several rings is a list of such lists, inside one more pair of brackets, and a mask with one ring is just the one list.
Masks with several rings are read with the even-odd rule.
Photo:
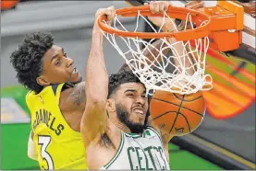
[[145, 87], [140, 83], [126, 83], [120, 85], [116, 91], [116, 115], [134, 133], [143, 131], [148, 98]]

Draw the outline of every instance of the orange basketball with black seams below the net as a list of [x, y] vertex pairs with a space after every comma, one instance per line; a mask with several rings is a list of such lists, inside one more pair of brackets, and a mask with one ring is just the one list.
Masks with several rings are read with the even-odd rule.
[[151, 117], [165, 131], [183, 136], [195, 131], [203, 120], [205, 103], [201, 91], [179, 95], [156, 91], [150, 103]]

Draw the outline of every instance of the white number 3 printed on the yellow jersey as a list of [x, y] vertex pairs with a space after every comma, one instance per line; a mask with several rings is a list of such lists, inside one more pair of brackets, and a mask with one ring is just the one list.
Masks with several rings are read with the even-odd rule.
[[[47, 163], [48, 169], [47, 170], [54, 170], [54, 162], [50, 154], [47, 152], [47, 147], [51, 142], [50, 136], [39, 135], [38, 136], [38, 144], [41, 145], [41, 156], [43, 160]], [[45, 170], [45, 168], [43, 168]]]

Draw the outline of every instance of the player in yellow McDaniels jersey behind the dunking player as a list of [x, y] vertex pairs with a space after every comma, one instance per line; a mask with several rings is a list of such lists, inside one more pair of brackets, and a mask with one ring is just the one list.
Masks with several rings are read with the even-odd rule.
[[[161, 43], [155, 42], [155, 47]], [[151, 50], [152, 52], [157, 52]], [[151, 58], [152, 53], [145, 51]], [[33, 33], [11, 55], [18, 82], [30, 92], [28, 145], [30, 158], [42, 169], [86, 169], [80, 120], [85, 108], [85, 88], [80, 74], [50, 34]], [[124, 64], [121, 70], [128, 69]]]

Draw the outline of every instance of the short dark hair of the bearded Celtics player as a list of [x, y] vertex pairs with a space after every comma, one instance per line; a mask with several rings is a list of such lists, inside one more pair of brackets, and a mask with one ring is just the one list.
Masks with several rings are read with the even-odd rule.
[[[140, 79], [133, 74], [131, 71], [122, 70], [117, 74], [111, 74], [109, 76], [109, 84], [108, 84], [108, 98], [113, 95], [119, 85], [124, 83], [141, 83]], [[142, 84], [142, 83], [141, 83]]]

